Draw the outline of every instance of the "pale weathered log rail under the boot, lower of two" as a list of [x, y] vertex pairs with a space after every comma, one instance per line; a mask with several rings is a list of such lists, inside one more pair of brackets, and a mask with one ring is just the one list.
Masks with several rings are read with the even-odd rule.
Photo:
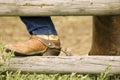
[[10, 71], [24, 73], [102, 73], [111, 65], [110, 73], [120, 74], [120, 56], [15, 57], [8, 63]]

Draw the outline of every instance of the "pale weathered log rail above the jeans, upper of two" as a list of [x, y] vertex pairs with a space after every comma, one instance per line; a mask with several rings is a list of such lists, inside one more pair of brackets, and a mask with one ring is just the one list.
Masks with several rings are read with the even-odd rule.
[[0, 0], [0, 15], [119, 15], [120, 0]]

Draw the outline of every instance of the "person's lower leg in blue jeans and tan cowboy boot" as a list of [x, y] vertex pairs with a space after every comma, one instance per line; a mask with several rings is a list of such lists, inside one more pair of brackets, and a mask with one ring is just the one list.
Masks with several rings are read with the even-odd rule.
[[13, 50], [16, 56], [57, 56], [60, 53], [60, 41], [50, 17], [21, 17], [21, 20], [31, 38], [27, 42], [6, 45], [7, 52]]

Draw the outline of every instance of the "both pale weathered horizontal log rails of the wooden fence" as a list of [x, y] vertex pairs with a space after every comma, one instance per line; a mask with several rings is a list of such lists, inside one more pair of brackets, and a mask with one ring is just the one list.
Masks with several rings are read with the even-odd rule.
[[[62, 15], [120, 15], [120, 0], [0, 0], [0, 16]], [[101, 73], [111, 65], [110, 73], [120, 74], [120, 56], [15, 57], [9, 63], [8, 70], [33, 73]]]

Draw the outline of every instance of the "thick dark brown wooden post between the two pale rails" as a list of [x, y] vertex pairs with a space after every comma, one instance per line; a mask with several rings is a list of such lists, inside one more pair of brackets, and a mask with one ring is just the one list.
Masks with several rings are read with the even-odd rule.
[[120, 16], [93, 17], [90, 55], [120, 55]]

